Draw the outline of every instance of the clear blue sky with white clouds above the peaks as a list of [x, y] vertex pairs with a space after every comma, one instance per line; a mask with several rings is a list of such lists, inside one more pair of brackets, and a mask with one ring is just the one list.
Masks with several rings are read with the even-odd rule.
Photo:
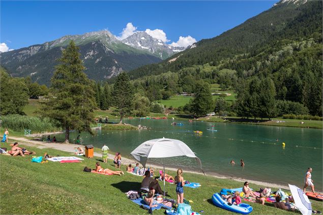
[[0, 51], [107, 29], [173, 46], [213, 38], [277, 1], [0, 1]]

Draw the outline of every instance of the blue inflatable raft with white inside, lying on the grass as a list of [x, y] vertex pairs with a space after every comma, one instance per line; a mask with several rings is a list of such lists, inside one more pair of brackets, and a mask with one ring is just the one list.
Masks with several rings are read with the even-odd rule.
[[229, 205], [228, 202], [226, 202], [221, 198], [219, 193], [213, 194], [212, 202], [218, 207], [221, 207], [223, 209], [236, 212], [236, 213], [249, 214], [252, 211], [252, 207], [249, 204], [241, 203], [239, 204], [239, 206], [234, 204]]

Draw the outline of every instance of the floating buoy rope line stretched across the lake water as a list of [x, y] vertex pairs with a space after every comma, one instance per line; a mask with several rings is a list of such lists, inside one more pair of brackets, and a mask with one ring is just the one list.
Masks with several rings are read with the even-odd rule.
[[[272, 142], [261, 142], [261, 141], [255, 141], [255, 140], [246, 140], [246, 139], [233, 139], [233, 138], [223, 138], [223, 137], [213, 137], [213, 136], [205, 136], [205, 135], [200, 135], [200, 134], [189, 134], [189, 133], [176, 133], [176, 132], [163, 132], [163, 131], [156, 131], [156, 130], [145, 130], [145, 131], [150, 131], [150, 132], [160, 132], [160, 133], [166, 133], [166, 134], [183, 134], [183, 135], [188, 135], [188, 136], [192, 136], [192, 137], [204, 137], [204, 138], [215, 138], [215, 139], [224, 139], [224, 140], [235, 140], [235, 141], [244, 141], [244, 142], [253, 142], [253, 143], [262, 143], [262, 144], [270, 144], [270, 145], [280, 145], [279, 143], [272, 143]], [[126, 132], [126, 131], [114, 131], [114, 132], [110, 132], [110, 133], [105, 133], [106, 135], [108, 134], [113, 134], [113, 133], [122, 133], [122, 132]], [[190, 131], [187, 131], [190, 132]], [[98, 136], [103, 136], [104, 134], [98, 134], [98, 135], [93, 135], [92, 137], [98, 137]], [[86, 136], [87, 138], [87, 136]], [[300, 145], [296, 145], [295, 147], [301, 147], [301, 148], [310, 148], [310, 149], [323, 149], [323, 148], [318, 148], [318, 147], [309, 147], [309, 146], [300, 146]]]

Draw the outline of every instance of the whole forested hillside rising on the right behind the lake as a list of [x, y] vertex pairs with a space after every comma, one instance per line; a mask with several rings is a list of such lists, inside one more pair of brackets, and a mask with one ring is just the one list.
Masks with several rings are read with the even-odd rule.
[[[198, 80], [219, 83], [237, 91], [230, 110], [245, 117], [276, 116], [276, 108], [288, 102], [301, 105], [289, 113], [321, 116], [322, 2], [281, 1], [218, 37], [131, 71], [130, 77], [137, 87], [159, 94], [194, 93]], [[270, 95], [266, 101], [265, 95]]]

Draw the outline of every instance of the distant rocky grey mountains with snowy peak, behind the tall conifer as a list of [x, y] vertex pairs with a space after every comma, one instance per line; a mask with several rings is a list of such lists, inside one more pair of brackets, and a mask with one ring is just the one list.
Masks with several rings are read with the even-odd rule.
[[137, 32], [120, 41], [108, 30], [83, 35], [68, 35], [43, 44], [0, 53], [1, 66], [13, 77], [31, 76], [40, 84], [50, 84], [57, 59], [71, 40], [80, 49], [87, 76], [109, 79], [122, 71], [161, 62], [183, 47], [172, 47], [145, 32]]

